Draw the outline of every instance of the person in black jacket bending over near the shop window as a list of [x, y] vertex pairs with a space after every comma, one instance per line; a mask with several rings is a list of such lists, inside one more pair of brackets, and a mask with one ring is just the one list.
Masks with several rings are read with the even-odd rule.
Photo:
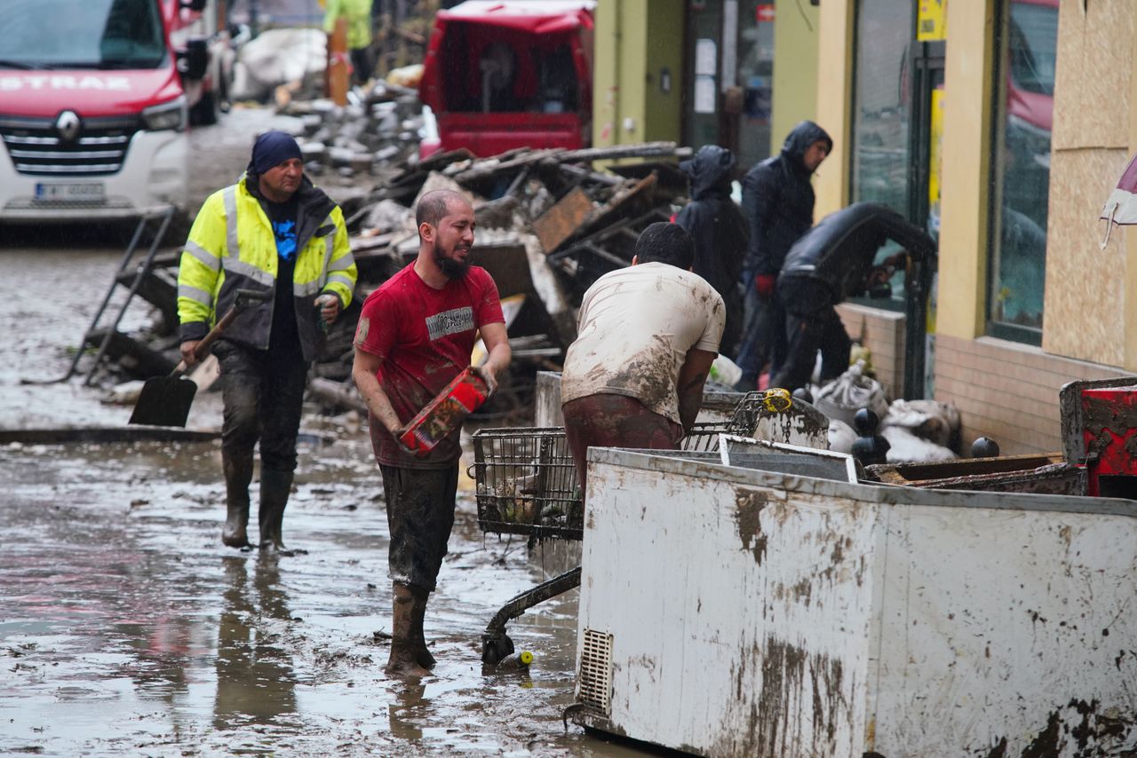
[[[874, 264], [877, 251], [893, 240], [904, 250]], [[849, 367], [849, 340], [835, 306], [845, 298], [874, 290], [887, 292], [888, 280], [907, 259], [929, 260], [936, 241], [887, 206], [855, 202], [821, 219], [790, 249], [778, 277], [778, 298], [786, 309], [789, 349], [770, 386], [796, 390], [810, 381], [821, 350], [821, 383]]]

